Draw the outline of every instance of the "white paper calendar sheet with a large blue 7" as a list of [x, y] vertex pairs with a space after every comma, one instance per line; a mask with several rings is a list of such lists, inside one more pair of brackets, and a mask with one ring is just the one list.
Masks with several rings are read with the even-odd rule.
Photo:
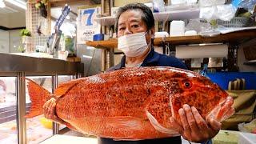
[[92, 41], [94, 34], [100, 33], [101, 25], [94, 21], [98, 14], [101, 14], [100, 7], [78, 9], [78, 44]]

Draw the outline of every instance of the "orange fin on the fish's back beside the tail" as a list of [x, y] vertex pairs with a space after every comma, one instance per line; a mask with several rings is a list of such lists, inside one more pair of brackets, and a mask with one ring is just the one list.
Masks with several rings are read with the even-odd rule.
[[57, 98], [61, 98], [64, 94], [66, 94], [69, 90], [76, 86], [78, 82], [79, 80], [72, 80], [70, 82], [64, 82], [60, 84], [58, 88], [54, 91], [54, 96]]

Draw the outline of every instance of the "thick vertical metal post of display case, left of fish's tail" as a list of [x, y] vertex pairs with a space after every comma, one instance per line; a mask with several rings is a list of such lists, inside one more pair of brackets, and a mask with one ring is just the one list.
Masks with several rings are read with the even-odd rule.
[[18, 110], [18, 143], [26, 144], [26, 83], [25, 73], [19, 72], [17, 77], [17, 110]]

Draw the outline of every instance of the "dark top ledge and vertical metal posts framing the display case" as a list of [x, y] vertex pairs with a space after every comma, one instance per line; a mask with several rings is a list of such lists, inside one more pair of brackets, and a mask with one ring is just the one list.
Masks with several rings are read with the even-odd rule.
[[[52, 58], [32, 58], [0, 53], [0, 76], [17, 77], [17, 121], [18, 143], [26, 144], [26, 76], [53, 76], [53, 90], [58, 86], [58, 74], [83, 75], [84, 66], [80, 62], [66, 62]], [[58, 126], [54, 128], [58, 133]]]

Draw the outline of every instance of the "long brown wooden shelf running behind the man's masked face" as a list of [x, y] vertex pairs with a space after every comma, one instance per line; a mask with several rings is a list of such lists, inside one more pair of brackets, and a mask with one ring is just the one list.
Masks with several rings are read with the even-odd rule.
[[[170, 42], [173, 45], [186, 45], [186, 44], [198, 44], [198, 43], [214, 43], [214, 42], [240, 42], [242, 40], [256, 38], [256, 29], [254, 30], [242, 30], [234, 33], [220, 34], [214, 37], [201, 37], [197, 36], [185, 36], [185, 37], [168, 37], [168, 38], [155, 38], [154, 45], [161, 46], [163, 40]], [[87, 46], [93, 46], [96, 48], [116, 48], [118, 41], [116, 38], [112, 38], [107, 41], [89, 41], [86, 42]]]

